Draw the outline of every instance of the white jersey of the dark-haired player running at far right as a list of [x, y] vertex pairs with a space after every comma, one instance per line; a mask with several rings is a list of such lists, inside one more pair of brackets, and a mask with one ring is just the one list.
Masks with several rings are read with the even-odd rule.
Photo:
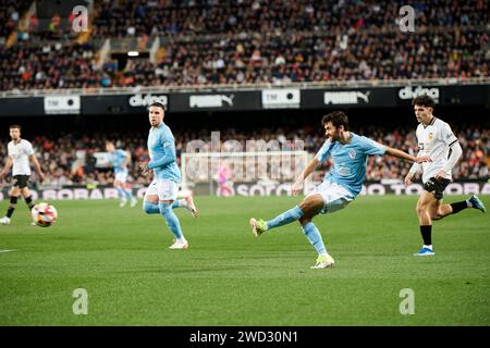
[[[436, 176], [448, 163], [450, 147], [457, 141], [448, 123], [432, 117], [430, 124], [420, 123], [417, 127], [418, 156], [428, 156], [432, 162], [424, 162], [422, 182]], [[452, 179], [451, 171], [444, 172], [445, 178]]]

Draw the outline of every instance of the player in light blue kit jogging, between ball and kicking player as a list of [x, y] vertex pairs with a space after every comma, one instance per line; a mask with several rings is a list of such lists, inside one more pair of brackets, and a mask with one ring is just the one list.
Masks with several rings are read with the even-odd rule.
[[149, 107], [149, 122], [151, 128], [148, 135], [148, 152], [150, 162], [140, 163], [139, 167], [145, 174], [154, 171], [154, 181], [148, 186], [143, 202], [143, 210], [147, 214], [161, 214], [170, 231], [175, 236], [170, 249], [187, 249], [188, 241], [179, 222], [179, 217], [172, 211], [175, 208], [187, 209], [194, 217], [198, 211], [192, 196], [176, 200], [177, 188], [181, 182], [181, 171], [176, 164], [175, 139], [169, 126], [163, 123], [164, 107], [154, 102]]

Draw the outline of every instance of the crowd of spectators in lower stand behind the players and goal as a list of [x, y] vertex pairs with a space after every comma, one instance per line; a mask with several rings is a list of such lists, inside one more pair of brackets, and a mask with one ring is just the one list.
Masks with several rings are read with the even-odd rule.
[[[381, 144], [401, 149], [407, 153], [416, 156], [417, 146], [415, 132], [408, 128], [397, 128], [392, 132], [380, 127], [367, 127], [356, 129], [357, 134], [366, 135]], [[453, 127], [454, 133], [463, 148], [463, 156], [453, 170], [454, 179], [488, 179], [490, 165], [490, 129], [479, 129], [476, 126]], [[97, 166], [96, 156], [105, 152], [105, 141], [113, 140], [118, 148], [127, 150], [131, 153], [130, 182], [133, 185], [146, 185], [148, 176], [138, 173], [138, 163], [149, 161], [146, 147], [147, 134], [125, 132], [121, 134], [90, 134], [75, 137], [73, 134], [61, 134], [56, 138], [37, 136], [33, 139], [33, 145], [39, 162], [44, 169], [47, 187], [61, 187], [63, 185], [110, 185], [113, 182], [113, 171], [111, 167]], [[192, 140], [201, 140], [211, 146], [211, 132], [184, 130], [174, 132], [176, 139], [177, 163], [181, 164], [181, 156], [188, 148]], [[226, 140], [236, 140], [243, 149], [254, 150], [247, 141], [277, 140], [281, 150], [298, 150], [295, 140], [304, 141], [303, 148], [310, 154], [315, 154], [324, 141], [323, 135], [313, 132], [311, 128], [261, 128], [258, 132], [234, 132], [233, 129], [220, 133], [220, 150], [226, 151]], [[226, 144], [224, 144], [226, 141]], [[216, 146], [213, 147], [216, 149]], [[228, 149], [229, 150], [229, 149]], [[188, 150], [187, 150], [188, 151]], [[7, 147], [0, 148], [0, 163], [5, 162]], [[380, 181], [387, 178], [403, 179], [407, 174], [411, 164], [392, 157], [369, 157], [367, 163], [368, 181]], [[327, 171], [331, 170], [331, 162], [328, 160], [314, 174], [314, 179], [321, 179]], [[216, 173], [215, 173], [216, 174]], [[212, 174], [212, 175], [215, 175]], [[33, 174], [36, 181], [36, 174]], [[294, 177], [282, 177], [283, 181], [293, 181]]]

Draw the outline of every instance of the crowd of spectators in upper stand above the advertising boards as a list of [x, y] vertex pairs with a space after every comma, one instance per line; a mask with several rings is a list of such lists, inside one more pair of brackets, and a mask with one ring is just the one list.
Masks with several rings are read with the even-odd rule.
[[[0, 90], [489, 76], [488, 1], [419, 0], [415, 33], [400, 30], [403, 4], [96, 1], [87, 44], [54, 26], [41, 35], [51, 40], [0, 45]], [[98, 67], [94, 42], [140, 37], [160, 38], [155, 63], [108, 57]]]

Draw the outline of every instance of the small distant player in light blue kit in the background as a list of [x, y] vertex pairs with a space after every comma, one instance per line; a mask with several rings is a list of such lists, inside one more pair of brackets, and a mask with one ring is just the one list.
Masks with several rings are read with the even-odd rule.
[[126, 183], [127, 163], [131, 161], [131, 156], [122, 149], [117, 149], [112, 141], [106, 141], [106, 151], [109, 152], [109, 162], [114, 167], [114, 187], [121, 199], [119, 207], [123, 208], [127, 200], [131, 200], [131, 208], [133, 208], [136, 206], [137, 199]]

